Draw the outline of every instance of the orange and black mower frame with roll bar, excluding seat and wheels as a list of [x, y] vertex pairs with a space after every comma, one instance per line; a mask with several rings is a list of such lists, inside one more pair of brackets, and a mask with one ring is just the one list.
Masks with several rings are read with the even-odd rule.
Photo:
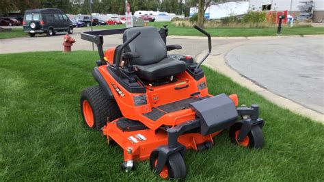
[[[120, 45], [116, 52], [113, 49], [113, 59], [116, 61], [113, 64], [106, 62], [107, 57], [103, 52], [103, 36], [123, 34], [127, 28], [81, 33], [81, 39], [94, 42], [98, 49], [100, 60], [96, 62], [97, 67], [92, 72], [94, 79], [100, 85], [107, 99], [116, 100], [122, 111], [122, 116], [124, 116], [111, 122], [107, 118], [107, 125], [102, 128], [108, 142], [114, 140], [124, 149], [124, 163], [121, 165], [123, 170], [132, 170], [134, 161], [150, 159], [151, 168], [160, 174], [171, 155], [180, 153], [183, 157], [189, 148], [196, 151], [210, 148], [213, 145], [213, 137], [224, 129], [230, 129], [232, 142], [240, 144], [247, 137], [256, 137], [254, 147], [262, 146], [263, 136], [260, 129], [265, 121], [258, 117], [258, 105], [237, 107], [236, 94], [230, 96], [208, 94], [206, 78], [200, 66], [211, 54], [211, 36], [204, 29], [198, 26], [194, 27], [207, 36], [208, 53], [199, 63], [189, 64], [189, 66], [186, 63], [187, 70], [177, 76], [178, 82], [167, 83], [163, 86], [144, 84], [136, 75], [132, 76], [124, 70], [120, 70], [122, 49], [135, 40], [141, 34], [140, 31]], [[159, 29], [159, 34], [166, 45], [167, 27]], [[136, 90], [135, 88], [127, 89], [124, 80], [129, 84], [137, 83], [141, 87]], [[116, 92], [111, 92], [113, 90]], [[166, 98], [165, 92], [178, 95], [169, 99]], [[181, 94], [189, 97], [184, 97]], [[161, 97], [160, 103], [153, 101], [154, 96], [157, 96], [158, 99], [159, 96]], [[129, 99], [122, 102], [121, 98]], [[169, 103], [191, 98], [194, 101], [187, 103], [183, 109], [172, 112], [165, 112], [161, 109], [162, 106]], [[163, 116], [155, 120], [148, 117], [149, 113], [154, 114], [153, 109], [163, 112]], [[131, 111], [131, 113], [126, 111]], [[239, 116], [241, 116], [241, 120], [237, 120]], [[152, 162], [155, 165], [153, 167]], [[183, 176], [175, 178], [183, 178]]]

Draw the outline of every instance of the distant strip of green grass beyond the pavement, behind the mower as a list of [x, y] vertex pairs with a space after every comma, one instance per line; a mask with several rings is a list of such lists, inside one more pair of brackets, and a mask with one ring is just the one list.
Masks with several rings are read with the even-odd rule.
[[[155, 27], [163, 27], [168, 25], [169, 35], [175, 36], [204, 36], [194, 28], [189, 27], [176, 27], [170, 22], [154, 22], [148, 23]], [[105, 25], [96, 26], [95, 29], [111, 29], [125, 27], [125, 25]], [[277, 36], [277, 28], [207, 28], [211, 36]], [[306, 27], [306, 26], [295, 26], [295, 27], [282, 27], [282, 36], [293, 36], [293, 35], [309, 35], [309, 34], [324, 34], [324, 27]]]

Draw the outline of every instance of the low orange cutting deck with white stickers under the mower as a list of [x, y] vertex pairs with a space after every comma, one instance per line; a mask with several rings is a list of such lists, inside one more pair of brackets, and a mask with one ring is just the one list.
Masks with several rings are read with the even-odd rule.
[[[107, 136], [108, 142], [113, 140], [124, 150], [124, 161], [143, 161], [150, 157], [152, 151], [158, 146], [167, 145], [167, 131], [161, 129], [153, 131], [151, 129], [141, 129], [137, 131], [122, 131], [117, 125], [119, 119], [109, 122], [103, 128], [103, 134]], [[220, 131], [219, 131], [220, 132]], [[178, 142], [187, 149], [198, 150], [197, 146], [206, 141], [213, 143], [213, 137], [219, 132], [210, 135], [200, 133], [187, 133], [180, 135]], [[141, 135], [139, 137], [138, 135]], [[132, 139], [131, 139], [132, 138]], [[135, 140], [134, 140], [135, 139]], [[131, 148], [131, 153], [129, 153]]]

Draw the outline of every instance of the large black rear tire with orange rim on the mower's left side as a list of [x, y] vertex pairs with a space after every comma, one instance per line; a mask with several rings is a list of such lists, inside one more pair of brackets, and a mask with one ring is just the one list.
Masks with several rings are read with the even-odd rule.
[[122, 117], [116, 101], [107, 99], [100, 86], [85, 88], [80, 104], [83, 121], [91, 129], [100, 130], [107, 122]]

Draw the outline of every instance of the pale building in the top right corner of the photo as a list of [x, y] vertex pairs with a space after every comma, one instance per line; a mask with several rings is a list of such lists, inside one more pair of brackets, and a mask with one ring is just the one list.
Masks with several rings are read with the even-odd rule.
[[310, 15], [314, 22], [324, 20], [324, 0], [249, 0], [250, 11], [288, 11], [303, 17]]

